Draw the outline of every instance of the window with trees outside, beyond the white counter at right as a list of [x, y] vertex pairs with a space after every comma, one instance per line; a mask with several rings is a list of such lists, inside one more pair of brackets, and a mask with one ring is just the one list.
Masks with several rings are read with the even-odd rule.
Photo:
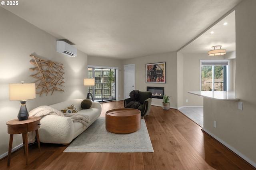
[[200, 60], [201, 91], [228, 91], [229, 60]]

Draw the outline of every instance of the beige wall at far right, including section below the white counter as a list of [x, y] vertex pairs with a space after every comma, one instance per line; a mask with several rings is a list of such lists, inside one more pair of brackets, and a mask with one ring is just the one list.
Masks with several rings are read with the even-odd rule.
[[235, 97], [243, 102], [243, 110], [238, 110], [238, 102], [204, 99], [204, 128], [256, 167], [255, 6], [255, 0], [244, 0], [235, 8]]

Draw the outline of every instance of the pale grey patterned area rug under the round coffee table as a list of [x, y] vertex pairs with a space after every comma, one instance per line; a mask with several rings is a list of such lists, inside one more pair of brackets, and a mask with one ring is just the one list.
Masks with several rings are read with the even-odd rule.
[[111, 133], [105, 126], [105, 117], [99, 117], [64, 152], [154, 152], [144, 119], [130, 134]]

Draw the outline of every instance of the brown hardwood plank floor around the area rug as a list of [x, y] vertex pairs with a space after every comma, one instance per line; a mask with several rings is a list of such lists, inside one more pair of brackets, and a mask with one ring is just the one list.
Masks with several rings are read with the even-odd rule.
[[[123, 101], [101, 103], [102, 114], [123, 108]], [[29, 146], [26, 165], [23, 149], [0, 160], [0, 169], [67, 169], [67, 170], [252, 170], [253, 166], [236, 156], [218, 141], [202, 132], [178, 110], [152, 106], [145, 117], [154, 148], [148, 153], [68, 153], [68, 145], [41, 143]], [[39, 134], [40, 135], [40, 134]]]

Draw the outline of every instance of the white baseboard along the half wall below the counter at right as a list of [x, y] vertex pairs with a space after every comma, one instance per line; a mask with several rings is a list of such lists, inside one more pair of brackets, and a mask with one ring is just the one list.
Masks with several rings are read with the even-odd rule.
[[235, 154], [237, 154], [238, 156], [243, 158], [246, 162], [248, 162], [249, 164], [251, 164], [252, 166], [254, 166], [256, 168], [256, 163], [253, 162], [252, 160], [250, 160], [249, 158], [247, 158], [246, 156], [244, 156], [244, 154], [242, 154], [241, 152], [239, 152], [238, 150], [236, 150], [235, 148], [230, 146], [228, 143], [224, 142], [223, 140], [221, 140], [220, 138], [218, 138], [217, 136], [215, 136], [214, 134], [212, 134], [211, 132], [209, 132], [205, 128], [202, 128], [202, 130], [204, 132], [206, 132], [207, 134], [209, 134], [210, 136], [212, 136], [214, 139], [218, 140], [221, 144], [223, 144], [224, 146], [226, 146], [227, 148], [232, 150], [232, 152], [234, 152]]

